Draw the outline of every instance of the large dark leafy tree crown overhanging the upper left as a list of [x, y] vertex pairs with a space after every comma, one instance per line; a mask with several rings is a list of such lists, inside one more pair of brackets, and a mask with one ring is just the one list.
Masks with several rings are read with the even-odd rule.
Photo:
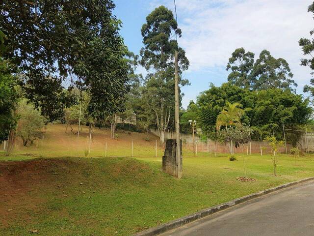
[[92, 117], [123, 110], [126, 48], [113, 8], [112, 0], [2, 1], [3, 56], [19, 68], [26, 98], [50, 120], [75, 101], [64, 92], [75, 86], [89, 90]]

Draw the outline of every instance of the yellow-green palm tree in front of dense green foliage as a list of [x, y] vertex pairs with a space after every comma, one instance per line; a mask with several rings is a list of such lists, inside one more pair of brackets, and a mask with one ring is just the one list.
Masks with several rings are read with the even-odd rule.
[[[227, 102], [227, 106], [219, 113], [216, 120], [216, 129], [219, 130], [222, 126], [226, 127], [228, 131], [231, 125], [241, 122], [241, 117], [244, 115], [244, 110], [241, 108], [242, 105], [238, 102], [230, 103]], [[233, 154], [233, 143], [229, 143], [230, 152]]]

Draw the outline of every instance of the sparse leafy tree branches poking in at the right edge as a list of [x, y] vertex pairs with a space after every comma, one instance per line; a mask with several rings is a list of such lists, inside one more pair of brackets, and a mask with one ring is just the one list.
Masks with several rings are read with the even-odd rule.
[[[314, 13], [314, 2], [309, 5], [308, 12]], [[310, 35], [312, 36], [313, 33], [314, 29], [310, 31]], [[312, 70], [314, 70], [314, 39], [301, 38], [299, 40], [299, 46], [302, 48], [303, 54], [310, 57], [301, 59], [301, 65], [309, 66]], [[311, 75], [313, 76], [314, 72], [312, 72]], [[314, 78], [310, 79], [310, 85], [304, 86], [303, 91], [310, 92], [311, 96], [314, 97]]]

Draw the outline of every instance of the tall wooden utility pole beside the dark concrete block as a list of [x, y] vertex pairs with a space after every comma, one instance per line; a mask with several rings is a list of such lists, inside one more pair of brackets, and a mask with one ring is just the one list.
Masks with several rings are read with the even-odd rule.
[[182, 177], [181, 150], [180, 150], [180, 123], [179, 123], [179, 74], [178, 74], [178, 51], [175, 52], [175, 119], [176, 119], [176, 177]]

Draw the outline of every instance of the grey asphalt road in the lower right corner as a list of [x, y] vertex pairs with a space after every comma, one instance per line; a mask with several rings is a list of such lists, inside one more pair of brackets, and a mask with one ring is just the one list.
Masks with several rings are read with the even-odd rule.
[[314, 181], [231, 207], [160, 236], [314, 236]]

